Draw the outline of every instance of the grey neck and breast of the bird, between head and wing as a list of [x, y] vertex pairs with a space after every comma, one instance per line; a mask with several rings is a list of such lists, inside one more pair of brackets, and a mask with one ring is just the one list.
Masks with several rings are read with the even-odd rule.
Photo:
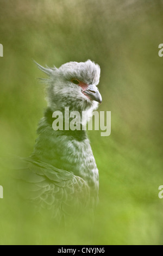
[[54, 131], [53, 110], [47, 108], [44, 117], [40, 120], [37, 129], [39, 136], [31, 157], [58, 169], [73, 172], [97, 191], [98, 170], [86, 131], [65, 129]]

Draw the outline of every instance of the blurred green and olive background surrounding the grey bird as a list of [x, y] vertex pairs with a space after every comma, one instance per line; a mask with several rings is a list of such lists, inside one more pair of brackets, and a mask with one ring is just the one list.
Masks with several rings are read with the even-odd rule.
[[[89, 131], [99, 169], [91, 240], [81, 221], [71, 235], [29, 217], [1, 168], [0, 244], [161, 245], [163, 1], [0, 0], [0, 157], [29, 156], [46, 107], [45, 77], [33, 60], [57, 66], [91, 59], [101, 66], [99, 111], [111, 135]], [[10, 192], [9, 192], [10, 191]], [[15, 212], [17, 214], [15, 214]]]

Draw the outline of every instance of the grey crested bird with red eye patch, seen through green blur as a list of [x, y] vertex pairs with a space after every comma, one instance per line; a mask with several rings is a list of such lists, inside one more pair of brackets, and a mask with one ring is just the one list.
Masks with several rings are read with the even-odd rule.
[[[85, 127], [102, 103], [97, 88], [101, 68], [90, 59], [59, 68], [36, 65], [47, 76], [42, 78], [47, 107], [37, 127], [33, 152], [16, 160], [14, 178], [23, 198], [61, 221], [66, 216], [79, 216], [85, 209], [95, 209], [98, 203], [99, 173], [90, 140], [85, 129], [65, 129], [65, 108], [70, 113], [84, 112], [86, 118], [76, 123]], [[62, 113], [62, 130], [53, 129], [54, 112]]]

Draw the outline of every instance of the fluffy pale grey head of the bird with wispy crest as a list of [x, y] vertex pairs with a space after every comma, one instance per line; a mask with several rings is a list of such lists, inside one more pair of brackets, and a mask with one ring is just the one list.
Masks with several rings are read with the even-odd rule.
[[52, 109], [70, 107], [72, 111], [93, 111], [102, 102], [97, 88], [101, 70], [91, 60], [69, 62], [58, 69], [37, 65], [48, 75], [47, 101]]

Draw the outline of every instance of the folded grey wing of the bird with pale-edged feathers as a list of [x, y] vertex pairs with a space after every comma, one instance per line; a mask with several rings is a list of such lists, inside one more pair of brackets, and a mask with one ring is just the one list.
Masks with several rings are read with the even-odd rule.
[[90, 204], [89, 185], [72, 172], [31, 158], [17, 159], [12, 167], [21, 197], [40, 211], [51, 210], [54, 218], [79, 215]]

